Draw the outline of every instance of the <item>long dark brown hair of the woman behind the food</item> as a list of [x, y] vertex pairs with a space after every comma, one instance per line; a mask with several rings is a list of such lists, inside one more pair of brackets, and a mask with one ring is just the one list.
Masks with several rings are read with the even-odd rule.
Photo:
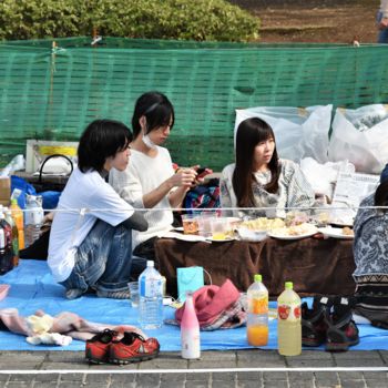
[[[246, 119], [238, 125], [236, 135], [236, 166], [232, 177], [233, 190], [239, 207], [254, 207], [253, 182], [255, 182], [253, 165], [255, 147], [259, 142], [274, 139], [273, 129], [262, 119]], [[274, 154], [268, 163], [270, 182], [264, 188], [269, 193], [278, 190], [278, 156], [276, 143]]]

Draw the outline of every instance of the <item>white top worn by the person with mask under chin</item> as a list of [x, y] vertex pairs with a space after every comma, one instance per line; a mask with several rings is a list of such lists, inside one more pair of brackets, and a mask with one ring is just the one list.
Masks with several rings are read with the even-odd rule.
[[[109, 174], [109, 182], [119, 195], [133, 207], [144, 208], [143, 195], [159, 187], [173, 174], [174, 170], [169, 151], [157, 146], [155, 157], [131, 150], [130, 164], [126, 170], [120, 172], [112, 169]], [[167, 208], [169, 211], [157, 211], [157, 208]], [[133, 248], [149, 238], [163, 236], [173, 227], [173, 213], [166, 195], [143, 215], [149, 223], [149, 229], [145, 232], [132, 232]]]

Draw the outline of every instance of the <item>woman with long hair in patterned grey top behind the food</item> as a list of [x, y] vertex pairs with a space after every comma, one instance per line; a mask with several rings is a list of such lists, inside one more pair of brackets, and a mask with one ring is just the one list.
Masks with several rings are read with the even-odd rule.
[[239, 210], [225, 214], [285, 217], [286, 207], [314, 205], [314, 191], [302, 170], [278, 159], [274, 131], [263, 120], [246, 119], [238, 125], [235, 161], [222, 172], [221, 205]]

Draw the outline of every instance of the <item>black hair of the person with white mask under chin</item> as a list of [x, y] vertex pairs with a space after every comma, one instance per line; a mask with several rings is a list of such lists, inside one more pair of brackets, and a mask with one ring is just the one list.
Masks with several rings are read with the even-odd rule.
[[132, 116], [132, 131], [135, 139], [142, 132], [139, 123], [141, 116], [145, 116], [146, 133], [170, 124], [170, 129], [172, 129], [175, 122], [174, 106], [160, 92], [147, 92], [137, 99]]

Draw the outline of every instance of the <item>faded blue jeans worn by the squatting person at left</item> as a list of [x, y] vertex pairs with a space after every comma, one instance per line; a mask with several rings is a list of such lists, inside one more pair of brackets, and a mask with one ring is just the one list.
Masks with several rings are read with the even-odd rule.
[[125, 290], [145, 267], [145, 259], [132, 257], [132, 231], [99, 219], [78, 247], [74, 268], [61, 284], [74, 290], [69, 298], [81, 296], [89, 288]]

